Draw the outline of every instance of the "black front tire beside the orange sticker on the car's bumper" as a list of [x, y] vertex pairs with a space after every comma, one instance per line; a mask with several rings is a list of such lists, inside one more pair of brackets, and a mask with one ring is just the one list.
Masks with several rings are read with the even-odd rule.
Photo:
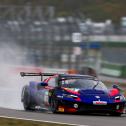
[[52, 97], [50, 99], [50, 109], [53, 113], [57, 113], [58, 112], [58, 101], [56, 100], [56, 98]]

